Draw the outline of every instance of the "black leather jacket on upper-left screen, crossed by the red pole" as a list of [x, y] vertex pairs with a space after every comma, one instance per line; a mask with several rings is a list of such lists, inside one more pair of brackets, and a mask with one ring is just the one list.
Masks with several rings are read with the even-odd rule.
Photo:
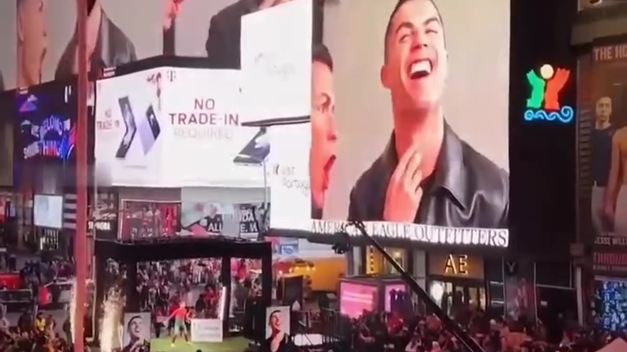
[[[55, 80], [64, 80], [74, 74], [75, 56], [76, 32], [70, 39], [70, 43], [66, 46], [65, 51], [63, 51], [58, 65], [56, 65]], [[101, 68], [124, 65], [133, 61], [137, 61], [135, 46], [130, 42], [126, 34], [113, 24], [105, 11], [102, 11], [98, 41], [90, 58], [91, 70], [97, 71]]]

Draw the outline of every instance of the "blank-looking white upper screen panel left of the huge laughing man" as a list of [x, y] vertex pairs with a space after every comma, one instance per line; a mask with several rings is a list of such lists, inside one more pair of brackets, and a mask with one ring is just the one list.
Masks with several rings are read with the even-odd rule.
[[242, 16], [246, 121], [310, 114], [312, 3], [290, 1]]

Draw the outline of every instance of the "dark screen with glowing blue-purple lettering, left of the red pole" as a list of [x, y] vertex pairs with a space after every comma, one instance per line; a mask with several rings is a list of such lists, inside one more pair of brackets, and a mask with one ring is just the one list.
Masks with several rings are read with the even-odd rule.
[[16, 98], [16, 149], [22, 160], [70, 160], [76, 143], [75, 87], [48, 83], [20, 91]]

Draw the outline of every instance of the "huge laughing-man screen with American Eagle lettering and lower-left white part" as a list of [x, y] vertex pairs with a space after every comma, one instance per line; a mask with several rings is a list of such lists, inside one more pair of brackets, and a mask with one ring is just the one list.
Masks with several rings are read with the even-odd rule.
[[270, 130], [271, 227], [507, 247], [509, 6], [327, 4], [311, 123]]

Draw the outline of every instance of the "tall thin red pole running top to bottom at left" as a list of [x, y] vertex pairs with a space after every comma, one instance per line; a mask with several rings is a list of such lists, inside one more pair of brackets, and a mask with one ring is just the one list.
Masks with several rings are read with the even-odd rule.
[[76, 115], [76, 310], [74, 351], [84, 352], [83, 320], [87, 302], [87, 0], [76, 0], [78, 24], [78, 111]]

